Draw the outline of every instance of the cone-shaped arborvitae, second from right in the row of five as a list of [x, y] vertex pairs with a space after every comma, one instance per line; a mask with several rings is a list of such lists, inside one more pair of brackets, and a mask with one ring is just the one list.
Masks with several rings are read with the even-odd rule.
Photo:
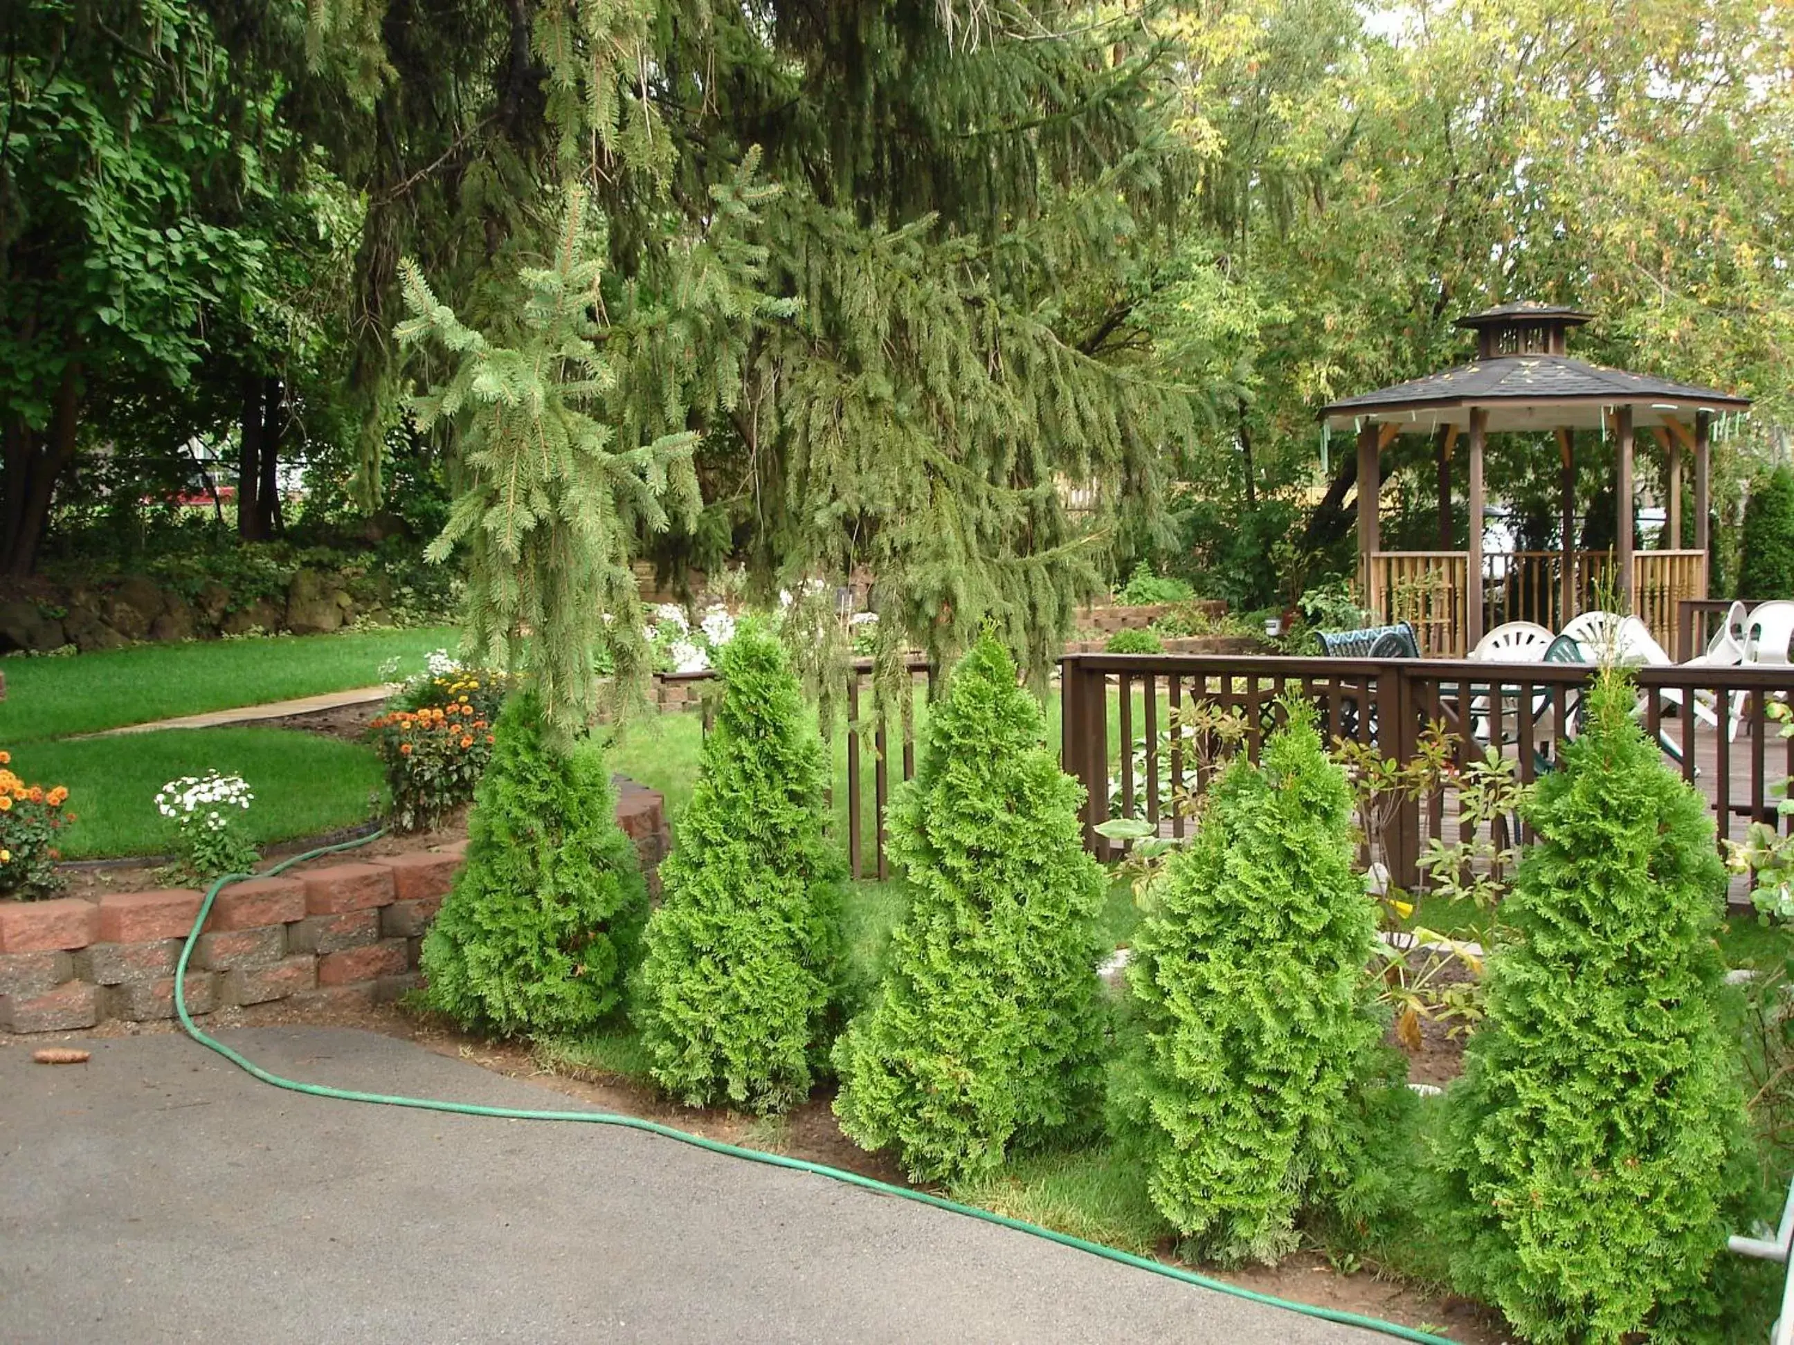
[[1274, 1259], [1304, 1209], [1362, 1218], [1412, 1098], [1383, 1047], [1351, 789], [1306, 705], [1236, 759], [1150, 888], [1110, 1126], [1202, 1255]]

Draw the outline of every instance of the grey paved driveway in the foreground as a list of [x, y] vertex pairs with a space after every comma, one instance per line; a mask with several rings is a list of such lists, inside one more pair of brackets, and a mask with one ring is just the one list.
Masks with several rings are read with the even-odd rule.
[[[276, 1072], [562, 1094], [373, 1033], [222, 1033]], [[1215, 1341], [1383, 1336], [610, 1126], [271, 1089], [181, 1037], [0, 1047], [7, 1341]]]

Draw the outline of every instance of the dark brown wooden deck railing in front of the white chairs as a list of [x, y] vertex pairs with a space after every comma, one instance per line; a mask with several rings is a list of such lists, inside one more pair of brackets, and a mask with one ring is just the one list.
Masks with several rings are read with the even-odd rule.
[[[1310, 701], [1333, 741], [1353, 737], [1383, 757], [1414, 760], [1428, 725], [1457, 741], [1457, 762], [1502, 744], [1521, 780], [1557, 762], [1575, 732], [1575, 708], [1595, 669], [1575, 664], [1466, 660], [1272, 658], [1207, 655], [1069, 655], [1062, 672], [1062, 764], [1087, 789], [1084, 836], [1102, 859], [1112, 845], [1096, 834], [1110, 816], [1141, 818], [1180, 836], [1179, 793], [1200, 794], [1186, 741], [1161, 732], [1177, 707], [1209, 703], [1245, 716], [1243, 750], [1256, 760], [1265, 733], [1285, 716], [1281, 698]], [[1683, 778], [1701, 789], [1720, 839], [1751, 820], [1778, 821], [1774, 785], [1794, 775], [1794, 739], [1765, 714], [1769, 698], [1794, 692], [1794, 667], [1643, 667], [1634, 671], [1638, 717]], [[1704, 705], [1720, 730], [1681, 707]], [[1737, 733], [1726, 732], [1737, 717]], [[1123, 746], [1127, 744], [1127, 746]], [[1136, 748], [1143, 746], [1141, 769]], [[1423, 807], [1424, 803], [1424, 807]], [[1428, 836], [1467, 829], [1457, 793], [1441, 787], [1408, 800], [1385, 836], [1394, 881], [1415, 888]]]

